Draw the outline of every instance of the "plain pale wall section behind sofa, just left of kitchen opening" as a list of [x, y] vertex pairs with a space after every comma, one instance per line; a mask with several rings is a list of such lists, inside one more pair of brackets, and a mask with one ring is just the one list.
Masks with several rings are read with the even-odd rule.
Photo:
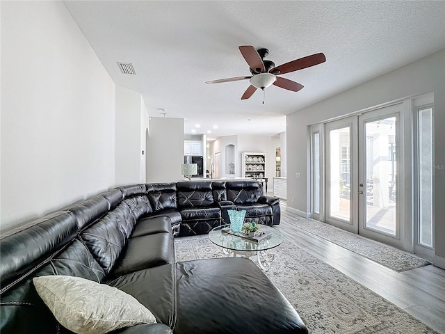
[[184, 118], [149, 120], [147, 182], [176, 182], [184, 164]]

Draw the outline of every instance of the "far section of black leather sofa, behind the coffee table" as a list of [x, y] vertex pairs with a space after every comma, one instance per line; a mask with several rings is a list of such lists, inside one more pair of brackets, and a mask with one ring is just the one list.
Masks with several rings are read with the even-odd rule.
[[280, 199], [264, 196], [255, 181], [145, 184], [137, 192], [133, 196], [147, 195], [145, 216], [168, 216], [179, 237], [205, 234], [221, 223], [229, 223], [229, 209], [245, 209], [246, 222], [280, 223]]

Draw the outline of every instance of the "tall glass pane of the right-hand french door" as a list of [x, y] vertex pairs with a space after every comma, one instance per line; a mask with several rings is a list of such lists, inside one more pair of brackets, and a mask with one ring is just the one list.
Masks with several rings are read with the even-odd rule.
[[396, 235], [396, 117], [365, 122], [365, 226]]

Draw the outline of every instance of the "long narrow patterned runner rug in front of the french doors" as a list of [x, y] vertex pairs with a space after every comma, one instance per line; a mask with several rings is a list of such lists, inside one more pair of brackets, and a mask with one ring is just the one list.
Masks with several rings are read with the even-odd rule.
[[311, 218], [289, 216], [289, 218], [282, 217], [282, 222], [289, 223], [399, 273], [432, 264], [432, 262], [412, 253]]

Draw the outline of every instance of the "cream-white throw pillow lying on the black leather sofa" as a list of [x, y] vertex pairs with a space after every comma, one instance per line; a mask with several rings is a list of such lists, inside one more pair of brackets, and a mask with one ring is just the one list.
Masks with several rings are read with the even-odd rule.
[[108, 333], [156, 322], [145, 306], [115, 287], [74, 276], [40, 276], [33, 283], [54, 317], [74, 333]]

